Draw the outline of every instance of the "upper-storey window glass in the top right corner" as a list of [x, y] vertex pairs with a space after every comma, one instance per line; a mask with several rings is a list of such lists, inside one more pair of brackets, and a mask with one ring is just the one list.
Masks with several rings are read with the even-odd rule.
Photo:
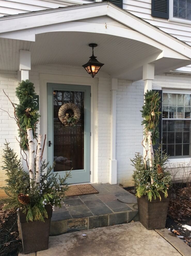
[[191, 0], [173, 0], [173, 17], [191, 20]]

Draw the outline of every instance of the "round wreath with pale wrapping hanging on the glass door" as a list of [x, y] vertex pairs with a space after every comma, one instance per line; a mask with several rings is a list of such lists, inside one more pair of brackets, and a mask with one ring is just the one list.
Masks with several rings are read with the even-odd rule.
[[58, 111], [58, 118], [63, 125], [73, 126], [79, 121], [80, 110], [74, 103], [65, 103]]

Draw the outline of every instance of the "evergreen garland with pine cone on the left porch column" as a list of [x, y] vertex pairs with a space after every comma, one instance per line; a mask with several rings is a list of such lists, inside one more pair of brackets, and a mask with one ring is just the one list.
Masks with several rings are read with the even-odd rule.
[[32, 128], [34, 137], [37, 137], [37, 134], [34, 131], [36, 130], [36, 124], [40, 116], [38, 114], [38, 109], [33, 102], [35, 95], [34, 84], [29, 82], [29, 80], [22, 80], [16, 88], [16, 96], [19, 99], [19, 104], [15, 104], [15, 112], [19, 118], [19, 124], [21, 127], [21, 131], [19, 130], [19, 136], [21, 137], [21, 147], [24, 150], [28, 149], [26, 130], [28, 128]]

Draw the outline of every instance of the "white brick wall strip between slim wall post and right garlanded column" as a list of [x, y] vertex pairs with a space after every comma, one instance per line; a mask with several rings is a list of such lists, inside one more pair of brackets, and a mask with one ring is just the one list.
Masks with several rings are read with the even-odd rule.
[[142, 153], [141, 107], [143, 105], [144, 83], [118, 81], [116, 109], [116, 159], [117, 183], [133, 186], [133, 167], [130, 159], [135, 152]]

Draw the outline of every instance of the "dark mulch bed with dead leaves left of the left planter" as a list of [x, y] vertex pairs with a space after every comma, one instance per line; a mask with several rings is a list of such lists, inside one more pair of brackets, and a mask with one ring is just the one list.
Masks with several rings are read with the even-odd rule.
[[22, 252], [22, 242], [19, 239], [17, 211], [3, 210], [0, 205], [0, 255], [18, 256]]

